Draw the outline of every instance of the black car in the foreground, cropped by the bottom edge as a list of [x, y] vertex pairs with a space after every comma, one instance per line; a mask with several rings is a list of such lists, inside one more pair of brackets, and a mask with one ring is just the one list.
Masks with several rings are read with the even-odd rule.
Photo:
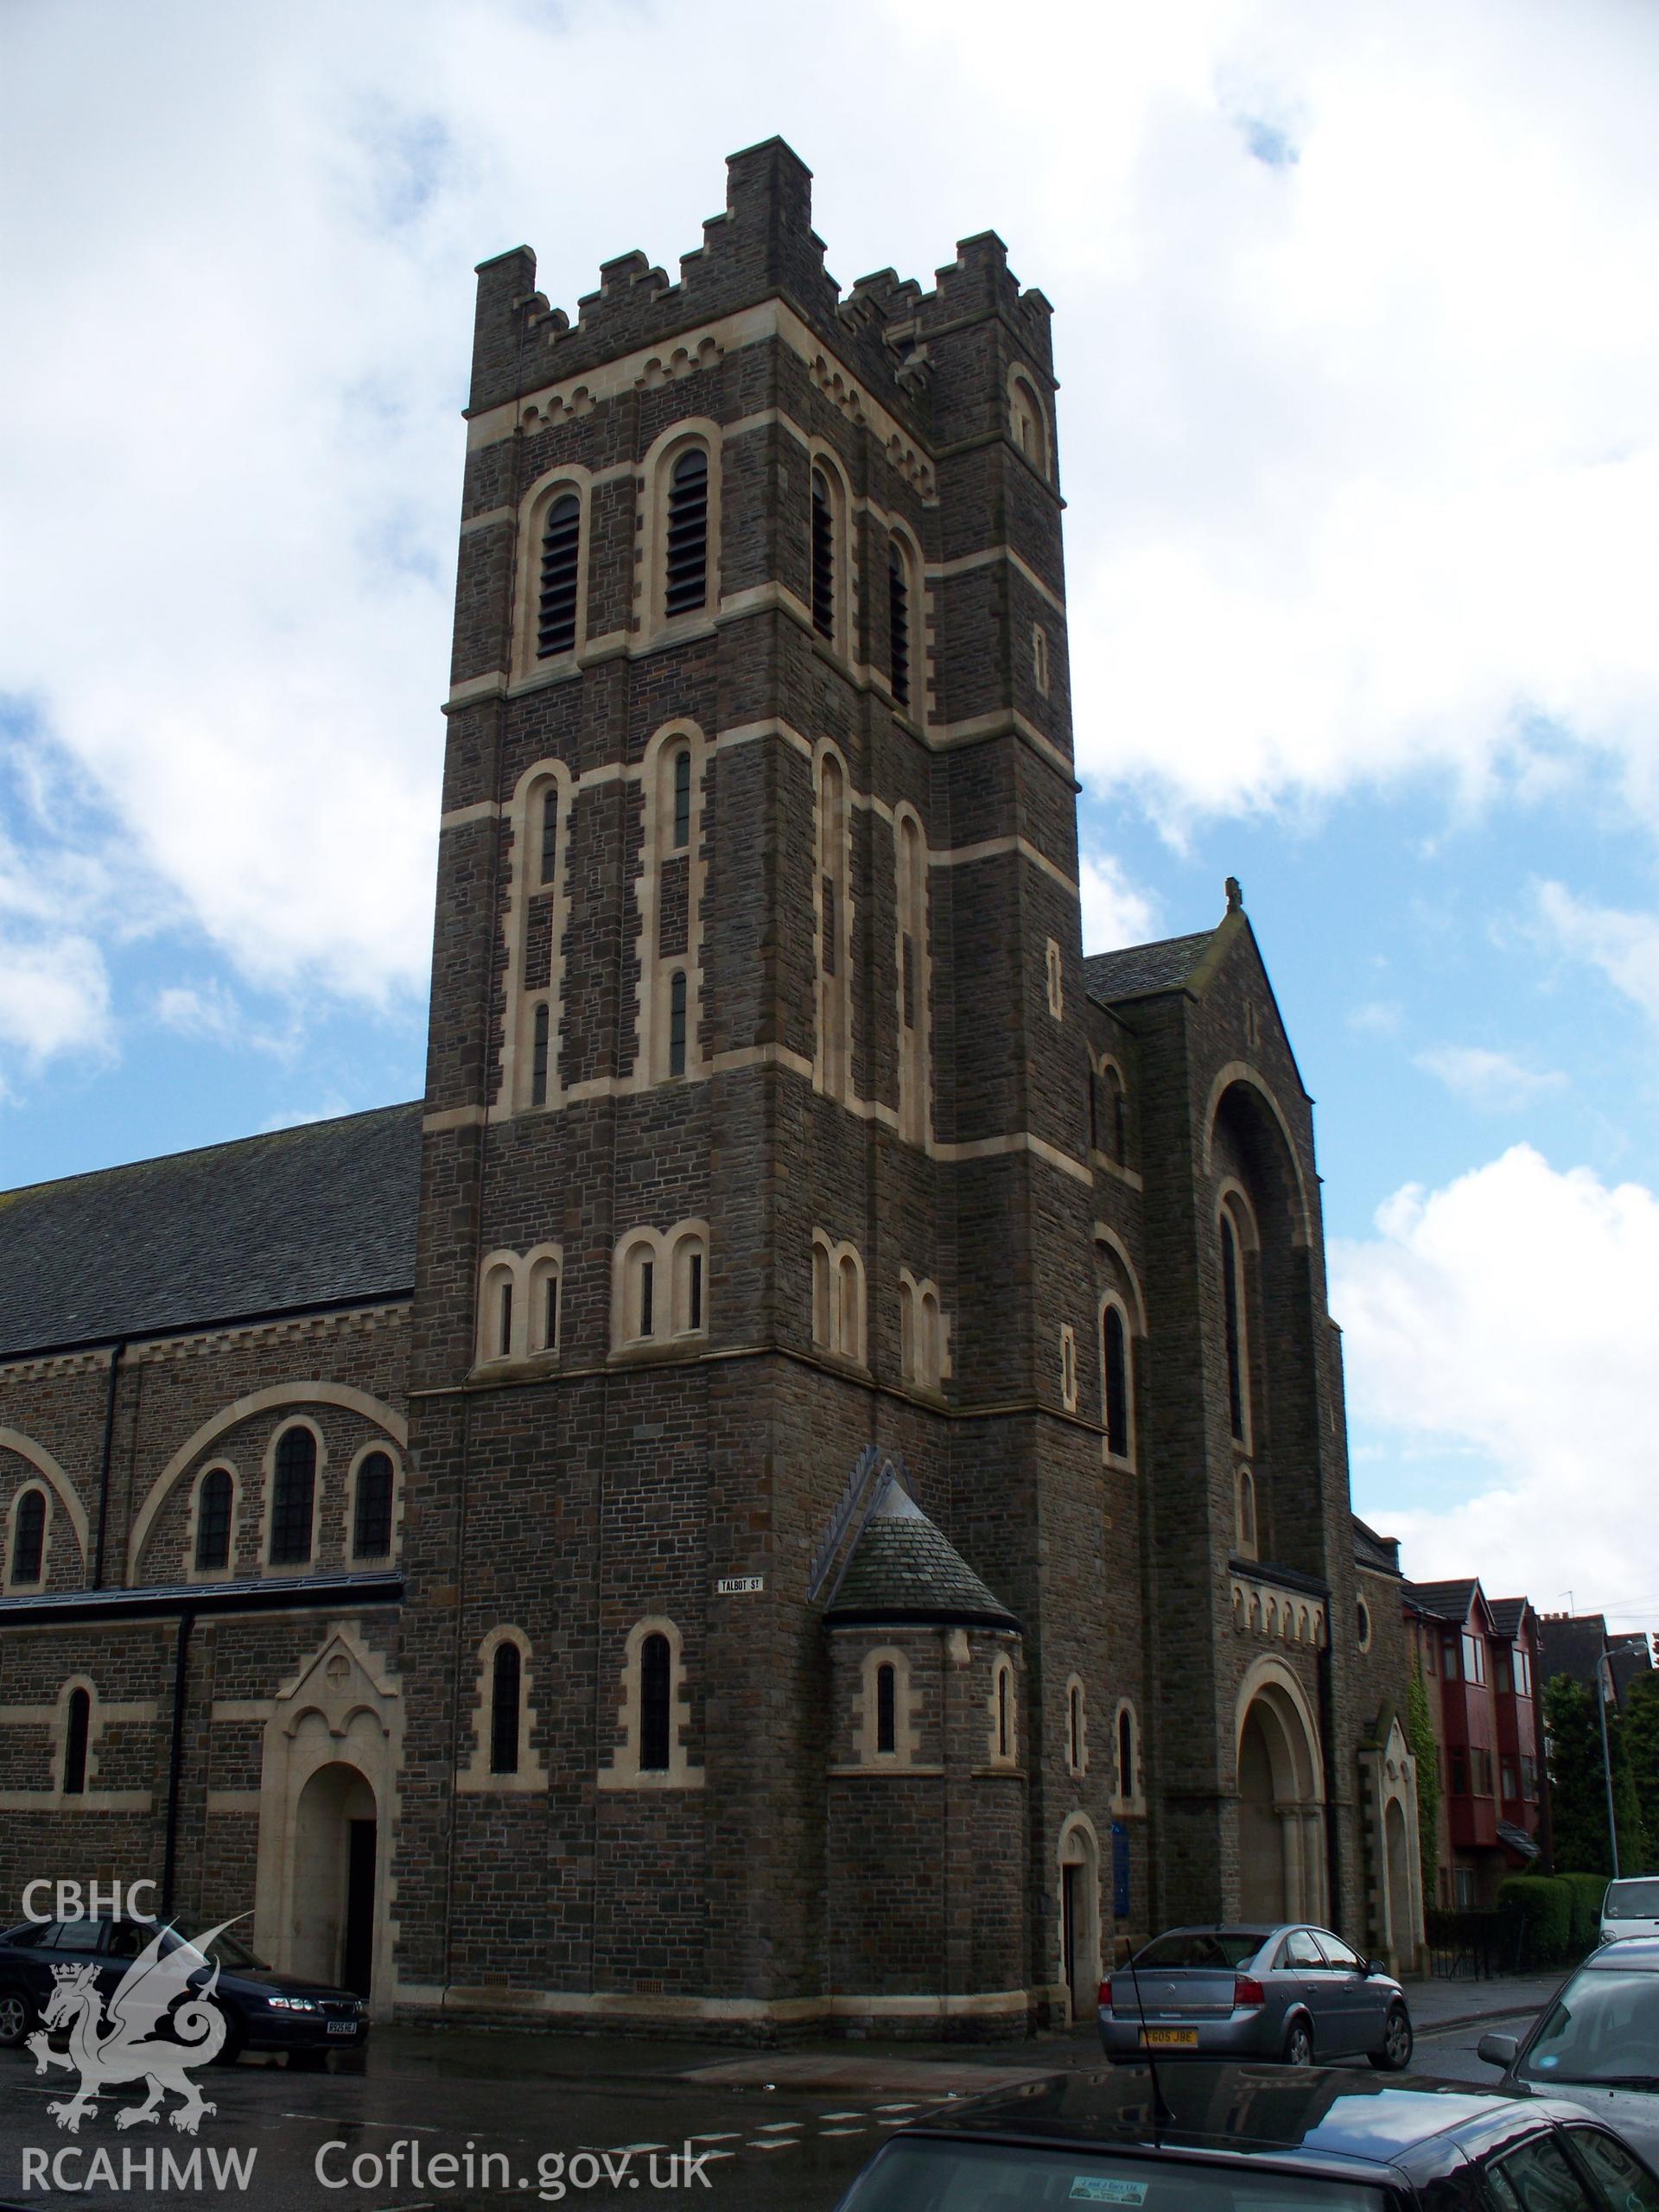
[[1659, 2212], [1568, 2104], [1194, 2059], [1051, 2075], [896, 2130], [838, 2212]]

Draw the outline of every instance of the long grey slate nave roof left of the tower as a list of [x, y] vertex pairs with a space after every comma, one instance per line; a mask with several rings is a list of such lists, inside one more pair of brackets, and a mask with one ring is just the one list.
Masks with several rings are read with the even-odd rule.
[[420, 1104], [0, 1192], [0, 1356], [414, 1285]]

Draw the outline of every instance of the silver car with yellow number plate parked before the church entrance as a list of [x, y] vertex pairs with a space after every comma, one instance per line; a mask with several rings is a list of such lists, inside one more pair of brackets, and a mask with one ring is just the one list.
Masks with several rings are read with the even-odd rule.
[[1356, 2057], [1411, 2064], [1411, 2013], [1394, 1975], [1329, 1929], [1250, 1922], [1170, 1929], [1099, 1984], [1108, 2057], [1190, 2051], [1203, 2057]]

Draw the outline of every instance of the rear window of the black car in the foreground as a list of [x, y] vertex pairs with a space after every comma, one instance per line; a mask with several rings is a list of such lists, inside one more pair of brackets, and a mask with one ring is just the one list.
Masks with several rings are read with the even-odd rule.
[[1197, 2159], [1124, 2159], [1013, 2143], [894, 2141], [865, 2168], [841, 2212], [1389, 2212], [1394, 2194], [1323, 2174], [1252, 2172]]

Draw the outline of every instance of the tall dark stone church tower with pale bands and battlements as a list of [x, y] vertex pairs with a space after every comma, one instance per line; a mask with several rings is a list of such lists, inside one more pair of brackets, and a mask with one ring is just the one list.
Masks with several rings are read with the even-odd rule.
[[[730, 161], [679, 283], [626, 254], [571, 321], [529, 250], [480, 268], [405, 1531], [411, 2002], [1024, 2015], [1055, 1980], [1033, 1630], [1099, 1559], [1102, 1444], [1057, 1318], [1091, 1208], [1053, 389], [1000, 239], [933, 292], [841, 296], [781, 142]], [[832, 1745], [810, 1582], [865, 1447], [1000, 1621], [922, 1608], [956, 1655], [936, 1688], [900, 1668], [898, 1717], [852, 1699]], [[830, 1922], [869, 1869], [836, 1865], [858, 1820], [830, 1781], [863, 1761], [898, 1803], [916, 1770], [887, 1880], [938, 1891], [947, 1681], [980, 1717], [998, 1955], [958, 1947], [951, 1982], [874, 1942], [860, 1986]]]

